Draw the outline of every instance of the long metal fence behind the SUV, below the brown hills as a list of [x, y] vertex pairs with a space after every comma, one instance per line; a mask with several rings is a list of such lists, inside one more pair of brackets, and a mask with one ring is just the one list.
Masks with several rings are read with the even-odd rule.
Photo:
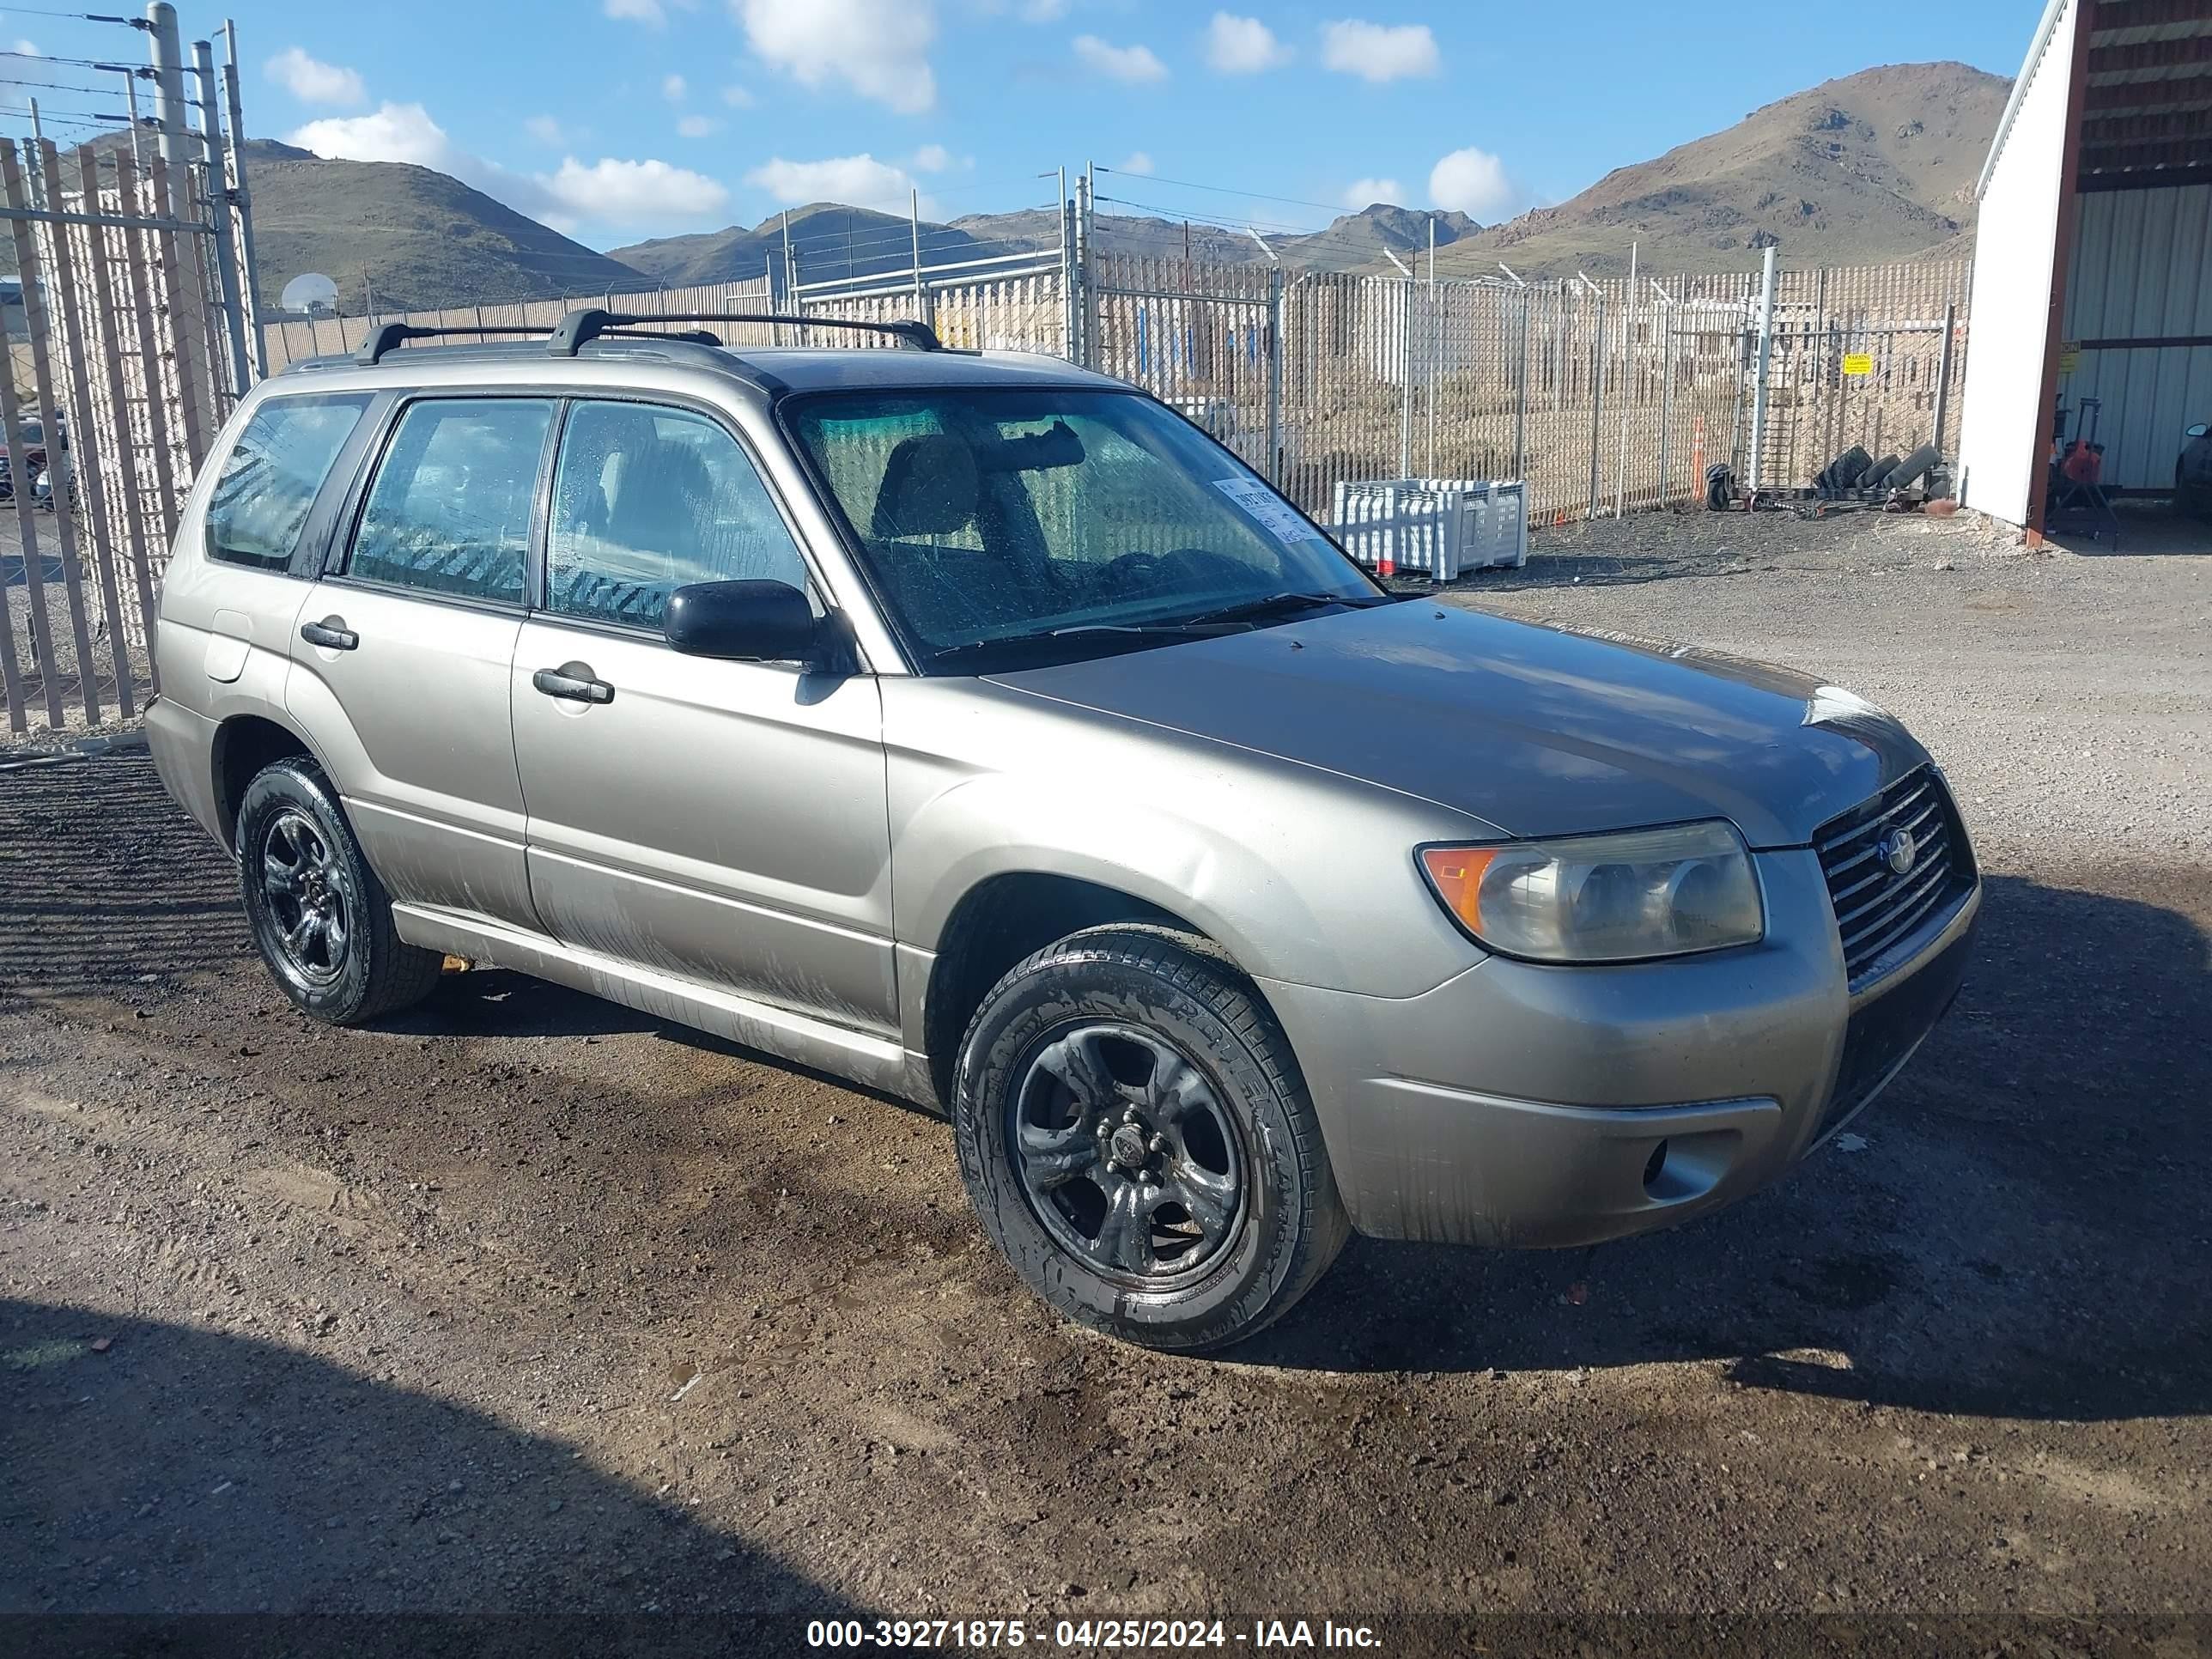
[[[748, 283], [604, 303], [920, 316], [951, 347], [1046, 352], [1141, 385], [1312, 513], [1338, 484], [1498, 478], [1526, 482], [1531, 522], [1559, 522], [1697, 500], [1710, 462], [1792, 489], [1854, 442], [1876, 456], [1940, 445], [1964, 378], [1964, 263], [1776, 272], [1772, 305], [1763, 270], [1542, 283], [1292, 272], [1108, 250], [1071, 210], [1057, 250], [821, 281], [785, 261]], [[405, 321], [551, 327], [595, 299]], [[352, 349], [367, 330], [270, 323], [268, 356]], [[732, 336], [772, 341], [856, 343], [803, 327]]]

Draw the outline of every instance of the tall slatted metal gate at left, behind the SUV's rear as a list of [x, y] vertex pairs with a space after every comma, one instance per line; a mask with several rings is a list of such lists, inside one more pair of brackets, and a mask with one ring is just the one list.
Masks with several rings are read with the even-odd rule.
[[234, 400], [215, 345], [228, 215], [157, 155], [84, 146], [64, 166], [51, 142], [0, 139], [0, 219], [22, 283], [22, 305], [0, 305], [7, 723], [131, 719], [159, 690], [170, 535]]

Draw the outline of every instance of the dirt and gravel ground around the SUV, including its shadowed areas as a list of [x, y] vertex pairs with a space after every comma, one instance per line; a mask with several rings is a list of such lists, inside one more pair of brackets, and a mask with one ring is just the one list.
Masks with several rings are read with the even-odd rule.
[[1228, 1360], [1046, 1314], [911, 1108], [507, 973], [314, 1026], [142, 754], [0, 772], [0, 1615], [2212, 1650], [2212, 557], [1637, 518], [1451, 599], [1902, 714], [1978, 960], [1781, 1186], [1588, 1261], [1354, 1241]]

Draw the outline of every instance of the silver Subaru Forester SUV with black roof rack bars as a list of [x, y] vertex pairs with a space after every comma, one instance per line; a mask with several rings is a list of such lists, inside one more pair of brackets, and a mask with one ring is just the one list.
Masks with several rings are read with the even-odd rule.
[[1037, 1294], [1199, 1352], [1354, 1228], [1739, 1199], [1955, 995], [1871, 703], [1387, 593], [1066, 363], [639, 321], [387, 325], [192, 489], [148, 734], [307, 1013], [458, 956], [931, 1104]]

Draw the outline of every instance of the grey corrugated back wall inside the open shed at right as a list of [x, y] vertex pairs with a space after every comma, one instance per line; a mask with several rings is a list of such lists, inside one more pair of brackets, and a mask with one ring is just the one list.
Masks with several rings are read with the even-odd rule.
[[[2068, 341], [2212, 338], [2212, 184], [2081, 197], [2066, 279]], [[2097, 398], [2104, 482], [2170, 489], [2181, 429], [2212, 420], [2212, 345], [2084, 349], [2059, 396], [2086, 436]]]

